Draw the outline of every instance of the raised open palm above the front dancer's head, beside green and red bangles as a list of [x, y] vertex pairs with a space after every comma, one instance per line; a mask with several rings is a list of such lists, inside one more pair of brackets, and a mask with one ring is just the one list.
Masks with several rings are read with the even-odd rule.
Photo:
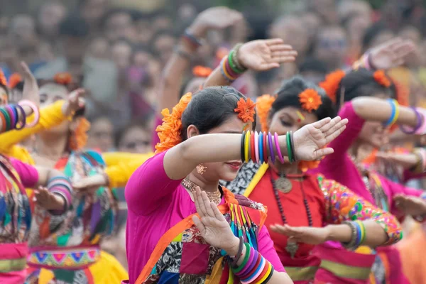
[[247, 69], [266, 71], [280, 67], [281, 63], [293, 62], [297, 51], [285, 45], [280, 38], [253, 40], [244, 43], [238, 53], [238, 60]]

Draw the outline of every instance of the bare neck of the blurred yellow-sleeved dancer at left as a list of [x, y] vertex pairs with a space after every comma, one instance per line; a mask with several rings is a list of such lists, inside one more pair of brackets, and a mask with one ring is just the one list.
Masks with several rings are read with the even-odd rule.
[[35, 152], [38, 155], [60, 158], [67, 152], [68, 136], [57, 133], [40, 133], [35, 141]]

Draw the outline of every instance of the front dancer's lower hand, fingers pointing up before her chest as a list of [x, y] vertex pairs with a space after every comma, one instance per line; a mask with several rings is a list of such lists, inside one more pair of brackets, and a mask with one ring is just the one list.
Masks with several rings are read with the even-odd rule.
[[195, 190], [194, 202], [200, 217], [194, 216], [192, 220], [203, 239], [209, 245], [224, 249], [226, 252], [238, 249], [239, 239], [232, 233], [229, 223], [217, 209], [217, 205], [210, 202], [206, 192], [200, 190], [200, 187]]

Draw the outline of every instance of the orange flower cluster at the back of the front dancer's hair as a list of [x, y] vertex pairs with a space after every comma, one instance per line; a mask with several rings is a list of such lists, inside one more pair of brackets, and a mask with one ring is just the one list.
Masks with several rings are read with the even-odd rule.
[[173, 107], [171, 114], [168, 109], [161, 111], [164, 117], [163, 124], [155, 129], [160, 138], [160, 142], [155, 145], [155, 154], [164, 152], [182, 142], [182, 114], [191, 98], [191, 93], [183, 95], [179, 103]]

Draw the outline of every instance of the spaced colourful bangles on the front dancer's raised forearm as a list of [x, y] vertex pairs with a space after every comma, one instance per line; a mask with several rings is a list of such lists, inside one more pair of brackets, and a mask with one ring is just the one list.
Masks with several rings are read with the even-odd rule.
[[[287, 151], [290, 163], [296, 161], [293, 132], [288, 132], [286, 135], [287, 139]], [[275, 149], [274, 149], [275, 146]], [[275, 153], [276, 151], [276, 153]], [[268, 163], [271, 159], [272, 163], [275, 163], [275, 156], [281, 163], [284, 163], [284, 157], [281, 154], [280, 143], [278, 142], [278, 134], [266, 132], [253, 132], [244, 131], [241, 135], [241, 161], [249, 163], [253, 160], [254, 163]]]

